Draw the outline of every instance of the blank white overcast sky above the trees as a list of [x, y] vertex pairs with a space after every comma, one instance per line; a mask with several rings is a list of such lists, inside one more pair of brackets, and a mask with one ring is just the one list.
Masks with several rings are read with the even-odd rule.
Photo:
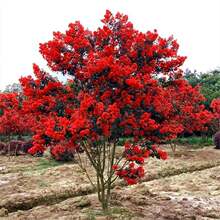
[[127, 14], [140, 31], [173, 35], [188, 57], [183, 69], [220, 67], [220, 0], [0, 0], [0, 90], [31, 75], [33, 63], [46, 68], [38, 47], [53, 31], [76, 20], [95, 30], [106, 9]]

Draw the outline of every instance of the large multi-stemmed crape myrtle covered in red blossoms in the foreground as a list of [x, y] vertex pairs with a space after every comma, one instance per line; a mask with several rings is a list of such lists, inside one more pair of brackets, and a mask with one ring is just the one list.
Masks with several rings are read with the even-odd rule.
[[[72, 82], [68, 87], [71, 102], [66, 104], [70, 94], [58, 92], [61, 85], [56, 82], [47, 100], [50, 110], [46, 117], [42, 115], [47, 107], [38, 105], [38, 117], [45, 120], [46, 130], [36, 139], [42, 140], [39, 146], [46, 140], [75, 149], [80, 146], [95, 170], [93, 184], [102, 208], [107, 210], [117, 177], [128, 184], [137, 183], [144, 176], [146, 158], [167, 158], [158, 143], [175, 138], [184, 129], [205, 127], [211, 115], [200, 104], [203, 97], [198, 89], [182, 77], [179, 67], [186, 57], [177, 54], [179, 45], [173, 37], [162, 38], [156, 30], [135, 30], [126, 15], [114, 16], [108, 10], [102, 23], [96, 31], [85, 29], [80, 22], [71, 23], [65, 33], [54, 32], [51, 41], [40, 44], [50, 69], [72, 77]], [[34, 71], [44, 72], [36, 65]], [[42, 95], [40, 86], [39, 77], [37, 86], [24, 89], [25, 95], [37, 101]], [[29, 94], [33, 88], [36, 94]], [[60, 105], [54, 102], [57, 95], [64, 99]], [[70, 108], [65, 114], [51, 110], [63, 112], [66, 105]], [[132, 139], [116, 157], [120, 137]]]

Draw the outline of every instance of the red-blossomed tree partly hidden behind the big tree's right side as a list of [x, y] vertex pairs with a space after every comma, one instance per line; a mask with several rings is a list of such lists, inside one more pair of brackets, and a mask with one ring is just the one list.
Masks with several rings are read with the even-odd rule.
[[[166, 83], [169, 83], [169, 81]], [[181, 124], [179, 125], [179, 129], [182, 131], [178, 136], [183, 134], [192, 135], [194, 132], [201, 131], [207, 132], [208, 127], [210, 127], [215, 117], [203, 104], [205, 97], [200, 93], [200, 87], [192, 87], [186, 80], [176, 80], [175, 83], [178, 86], [169, 85], [167, 87], [169, 93], [166, 98], [170, 99], [170, 102], [176, 109], [173, 116]], [[179, 115], [177, 112], [179, 112]], [[169, 139], [171, 140], [169, 143], [173, 153], [176, 151], [175, 141], [172, 141], [174, 138]]]

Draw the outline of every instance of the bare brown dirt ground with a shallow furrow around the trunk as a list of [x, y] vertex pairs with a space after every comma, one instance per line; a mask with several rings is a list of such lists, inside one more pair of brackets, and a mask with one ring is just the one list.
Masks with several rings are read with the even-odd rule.
[[166, 148], [140, 184], [117, 182], [108, 216], [76, 163], [0, 156], [0, 219], [220, 219], [220, 150]]

